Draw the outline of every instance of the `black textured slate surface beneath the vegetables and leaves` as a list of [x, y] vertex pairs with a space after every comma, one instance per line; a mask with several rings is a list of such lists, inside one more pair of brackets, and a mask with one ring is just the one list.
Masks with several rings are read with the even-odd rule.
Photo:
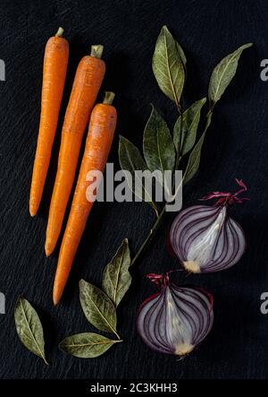
[[[268, 315], [261, 315], [260, 295], [268, 289], [267, 149], [268, 82], [259, 77], [268, 57], [265, 1], [0, 1], [0, 58], [6, 82], [0, 82], [1, 257], [0, 291], [6, 315], [0, 315], [1, 378], [264, 378], [268, 377]], [[80, 309], [81, 277], [99, 284], [105, 263], [122, 238], [135, 252], [154, 220], [145, 203], [96, 203], [80, 244], [63, 303], [52, 305], [55, 254], [44, 254], [46, 220], [53, 188], [63, 112], [80, 57], [92, 43], [105, 45], [104, 90], [116, 92], [117, 134], [110, 160], [118, 167], [118, 135], [139, 146], [153, 102], [170, 125], [172, 103], [159, 91], [151, 56], [163, 24], [179, 39], [188, 56], [186, 101], [202, 98], [214, 65], [241, 44], [253, 41], [239, 71], [214, 111], [198, 176], [184, 191], [184, 205], [213, 189], [247, 183], [250, 202], [231, 210], [247, 235], [247, 253], [227, 272], [192, 276], [188, 281], [210, 290], [215, 299], [214, 329], [190, 357], [156, 354], [140, 341], [135, 315], [154, 289], [147, 272], [175, 266], [165, 246], [167, 219], [142, 261], [119, 309], [119, 332], [125, 342], [93, 360], [71, 358], [57, 349], [68, 334], [92, 331]], [[48, 37], [58, 26], [71, 46], [70, 67], [54, 156], [38, 216], [29, 217], [28, 200], [38, 135], [42, 61]], [[46, 367], [21, 346], [13, 324], [13, 306], [23, 294], [37, 307], [45, 327]]]

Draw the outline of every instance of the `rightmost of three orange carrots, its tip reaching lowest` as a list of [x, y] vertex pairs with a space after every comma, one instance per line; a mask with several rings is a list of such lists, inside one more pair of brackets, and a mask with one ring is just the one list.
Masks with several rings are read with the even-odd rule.
[[106, 92], [102, 104], [97, 104], [92, 111], [88, 127], [88, 137], [80, 174], [71, 203], [71, 211], [63, 236], [57, 270], [54, 279], [53, 300], [56, 305], [63, 294], [63, 289], [71, 271], [71, 265], [86, 227], [93, 200], [87, 198], [88, 172], [103, 172], [113, 142], [116, 125], [116, 110], [112, 106], [114, 94]]

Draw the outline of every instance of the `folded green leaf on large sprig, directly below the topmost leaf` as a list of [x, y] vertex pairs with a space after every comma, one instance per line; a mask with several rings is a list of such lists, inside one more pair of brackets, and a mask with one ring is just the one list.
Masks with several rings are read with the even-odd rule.
[[197, 138], [197, 127], [200, 120], [202, 107], [205, 105], [206, 98], [194, 102], [183, 112], [182, 134], [180, 137], [181, 116], [177, 119], [173, 129], [173, 141], [176, 148], [180, 144], [180, 156], [184, 156], [194, 146]]

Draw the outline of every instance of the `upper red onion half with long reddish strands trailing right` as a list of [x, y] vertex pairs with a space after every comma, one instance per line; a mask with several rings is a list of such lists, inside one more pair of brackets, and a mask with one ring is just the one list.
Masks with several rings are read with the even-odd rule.
[[235, 194], [213, 192], [201, 200], [218, 197], [214, 206], [194, 205], [172, 223], [170, 243], [174, 254], [188, 272], [219, 272], [239, 262], [246, 249], [246, 240], [239, 223], [228, 215], [228, 206], [247, 200], [238, 195], [247, 186], [236, 179], [241, 187]]

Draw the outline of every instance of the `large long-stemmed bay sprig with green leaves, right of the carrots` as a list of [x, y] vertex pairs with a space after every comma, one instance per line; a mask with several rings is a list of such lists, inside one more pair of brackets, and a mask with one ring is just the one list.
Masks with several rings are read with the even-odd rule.
[[[131, 164], [131, 175], [134, 175], [135, 170], [145, 170], [147, 167], [147, 169], [153, 172], [160, 172], [158, 175], [163, 176], [164, 169], [170, 169], [174, 172], [176, 169], [180, 168], [180, 160], [186, 158], [187, 161], [183, 161], [186, 167], [182, 168], [183, 186], [195, 177], [200, 165], [205, 134], [212, 122], [214, 106], [219, 99], [222, 98], [222, 94], [233, 79], [242, 52], [251, 46], [252, 43], [247, 43], [239, 47], [230, 55], [225, 56], [222, 61], [215, 66], [208, 87], [209, 100], [205, 116], [205, 128], [202, 134], [198, 134], [198, 125], [202, 116], [201, 111], [205, 106], [206, 98], [195, 101], [189, 108], [183, 111], [181, 97], [186, 82], [187, 59], [178, 41], [172, 37], [172, 33], [168, 28], [163, 26], [156, 40], [152, 68], [160, 90], [163, 91], [166, 97], [175, 103], [179, 117], [175, 122], [173, 134], [171, 135], [169, 127], [163, 117], [161, 117], [153, 107], [144, 130], [144, 158], [133, 143], [121, 136], [119, 142], [119, 160], [121, 168], [123, 170], [130, 170], [130, 167], [128, 168], [125, 166]], [[126, 142], [128, 142], [127, 145]], [[131, 145], [135, 147], [135, 151], [128, 150]], [[128, 159], [127, 164], [126, 158]], [[142, 168], [137, 168], [136, 165], [140, 164], [142, 164]], [[133, 186], [130, 186], [130, 189], [135, 193]], [[174, 197], [176, 193], [177, 192], [173, 192]], [[143, 200], [147, 201], [145, 197], [146, 194], [143, 194]], [[149, 203], [155, 210], [156, 220], [149, 230], [147, 237], [138, 248], [138, 252], [133, 257], [131, 264], [135, 263], [139, 256], [142, 255], [148, 243], [152, 237], [154, 237], [165, 214], [165, 202], [162, 203], [161, 211], [159, 211], [157, 203], [154, 203], [153, 198]]]

